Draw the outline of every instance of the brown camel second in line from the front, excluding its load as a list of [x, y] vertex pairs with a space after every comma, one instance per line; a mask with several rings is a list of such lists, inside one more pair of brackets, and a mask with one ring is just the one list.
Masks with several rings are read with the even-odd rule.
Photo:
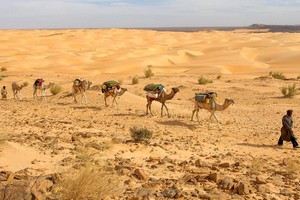
[[177, 92], [179, 92], [178, 88], [172, 88], [172, 91], [169, 94], [167, 94], [165, 92], [165, 90], [161, 90], [161, 92], [158, 94], [157, 98], [153, 98], [153, 97], [146, 95], [146, 98], [147, 98], [146, 114], [148, 114], [148, 110], [149, 110], [150, 114], [152, 115], [152, 111], [151, 111], [152, 101], [158, 101], [162, 104], [160, 115], [163, 116], [163, 108], [165, 107], [167, 110], [167, 113], [168, 113], [168, 117], [170, 117], [168, 107], [166, 106], [166, 101], [172, 99]]

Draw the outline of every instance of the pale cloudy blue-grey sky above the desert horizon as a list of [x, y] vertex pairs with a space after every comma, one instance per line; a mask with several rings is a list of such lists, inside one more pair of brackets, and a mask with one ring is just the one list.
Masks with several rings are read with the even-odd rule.
[[0, 29], [300, 24], [300, 0], [0, 0]]

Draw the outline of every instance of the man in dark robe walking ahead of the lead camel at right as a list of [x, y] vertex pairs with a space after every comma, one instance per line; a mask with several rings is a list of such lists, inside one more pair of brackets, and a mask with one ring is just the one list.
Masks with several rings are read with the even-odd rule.
[[281, 135], [278, 140], [278, 146], [283, 145], [283, 141], [291, 141], [293, 144], [294, 149], [299, 148], [297, 143], [297, 138], [293, 132], [293, 110], [288, 110], [286, 115], [282, 118], [282, 128], [281, 128]]

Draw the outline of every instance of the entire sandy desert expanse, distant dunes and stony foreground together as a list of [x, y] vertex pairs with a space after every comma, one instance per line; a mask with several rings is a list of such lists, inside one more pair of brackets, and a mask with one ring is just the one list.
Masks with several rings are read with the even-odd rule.
[[[276, 146], [287, 109], [294, 110], [300, 135], [299, 96], [283, 98], [280, 91], [299, 87], [299, 33], [7, 30], [0, 31], [0, 42], [0, 67], [7, 69], [0, 86], [8, 88], [8, 100], [0, 101], [0, 199], [13, 191], [16, 199], [68, 199], [59, 196], [66, 187], [60, 183], [91, 167], [108, 171], [114, 181], [106, 185], [117, 188], [94, 199], [300, 198], [299, 150], [290, 142]], [[155, 76], [145, 78], [149, 65]], [[271, 71], [287, 79], [274, 79]], [[213, 83], [198, 84], [201, 75]], [[34, 100], [37, 78], [63, 91]], [[86, 92], [87, 104], [70, 96], [75, 78], [96, 88]], [[118, 107], [104, 105], [97, 86], [106, 80], [128, 89]], [[21, 100], [13, 99], [13, 81], [29, 83]], [[166, 103], [170, 118], [160, 116], [158, 102], [154, 116], [145, 115], [143, 88], [153, 82], [168, 93], [180, 90]], [[190, 121], [195, 93], [206, 91], [216, 92], [219, 104], [235, 101], [216, 112], [221, 131], [216, 123], [208, 130], [206, 110], [200, 123]], [[148, 144], [132, 141], [134, 126], [153, 132]]]

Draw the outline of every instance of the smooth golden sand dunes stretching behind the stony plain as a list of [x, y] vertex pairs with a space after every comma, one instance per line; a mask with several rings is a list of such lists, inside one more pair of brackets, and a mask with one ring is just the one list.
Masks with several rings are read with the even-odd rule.
[[214, 69], [219, 73], [261, 73], [275, 69], [285, 72], [286, 67], [296, 73], [299, 72], [299, 40], [297, 33], [246, 31], [1, 31], [0, 53], [1, 65], [13, 71], [62, 73], [61, 68], [75, 67], [78, 70], [72, 70], [74, 74], [119, 72], [129, 75], [153, 65], [178, 72], [207, 73], [197, 67], [216, 66]]

